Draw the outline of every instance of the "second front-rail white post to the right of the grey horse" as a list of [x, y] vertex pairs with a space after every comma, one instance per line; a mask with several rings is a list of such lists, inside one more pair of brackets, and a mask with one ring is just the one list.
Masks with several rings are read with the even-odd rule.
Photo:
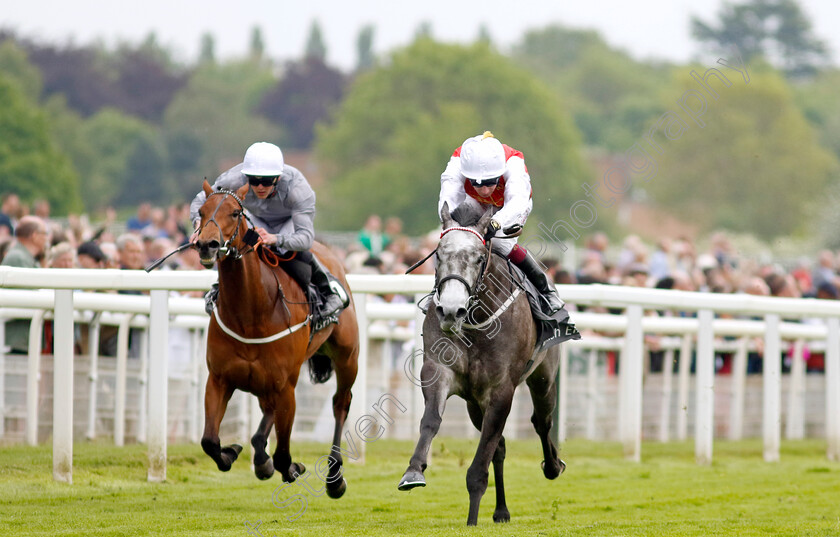
[[711, 310], [697, 312], [697, 418], [694, 425], [694, 455], [698, 464], [712, 463], [715, 421], [715, 346]]

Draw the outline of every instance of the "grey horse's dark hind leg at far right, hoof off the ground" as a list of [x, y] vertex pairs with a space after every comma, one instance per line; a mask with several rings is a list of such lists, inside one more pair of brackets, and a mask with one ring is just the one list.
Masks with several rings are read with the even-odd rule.
[[[557, 349], [554, 347], [551, 350]], [[549, 352], [551, 352], [549, 350]], [[543, 474], [548, 479], [555, 479], [566, 469], [566, 463], [557, 456], [557, 448], [551, 440], [551, 417], [557, 401], [557, 361], [546, 357], [545, 361], [534, 370], [526, 383], [531, 391], [534, 413], [531, 423], [540, 437], [543, 448]]]

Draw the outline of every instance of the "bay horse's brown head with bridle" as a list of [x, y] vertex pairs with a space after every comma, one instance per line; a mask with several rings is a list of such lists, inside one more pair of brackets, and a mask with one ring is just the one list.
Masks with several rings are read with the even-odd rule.
[[195, 247], [201, 264], [209, 268], [217, 259], [236, 256], [243, 247], [242, 239], [248, 224], [242, 199], [248, 193], [249, 186], [246, 184], [236, 192], [214, 191], [210, 183], [204, 181], [203, 188], [207, 199], [198, 210], [201, 227]]

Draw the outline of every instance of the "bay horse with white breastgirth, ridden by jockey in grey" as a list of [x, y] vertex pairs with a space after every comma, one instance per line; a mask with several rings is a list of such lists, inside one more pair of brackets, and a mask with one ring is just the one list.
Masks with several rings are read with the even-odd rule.
[[[310, 360], [313, 381], [325, 382], [333, 370], [336, 374], [332, 401], [335, 430], [329, 470], [324, 473], [327, 494], [339, 498], [347, 487], [342, 476], [341, 432], [359, 356], [352, 297], [337, 324], [312, 333], [307, 293], [284, 270], [262, 260], [259, 247], [250, 240], [256, 235], [242, 205], [249, 185], [235, 192], [214, 191], [204, 181], [203, 189], [207, 198], [199, 209], [201, 226], [195, 247], [205, 266], [215, 263], [218, 267], [219, 296], [207, 336], [209, 374], [201, 447], [219, 470], [230, 469], [242, 447], [222, 447], [219, 425], [234, 390], [252, 393], [263, 412], [251, 438], [254, 471], [258, 478], [268, 479], [276, 468], [283, 481], [293, 482], [306, 471], [302, 463], [292, 460], [289, 436], [295, 418], [295, 386], [301, 366]], [[349, 290], [344, 269], [329, 248], [315, 242], [312, 253]], [[269, 458], [266, 445], [272, 427], [277, 448]]]

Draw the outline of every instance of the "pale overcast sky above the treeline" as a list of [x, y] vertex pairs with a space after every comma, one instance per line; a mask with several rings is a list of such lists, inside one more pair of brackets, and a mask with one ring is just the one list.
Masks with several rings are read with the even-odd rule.
[[[349, 70], [356, 38], [375, 29], [377, 54], [409, 44], [421, 23], [440, 41], [471, 42], [483, 25], [506, 52], [531, 29], [549, 24], [598, 30], [607, 42], [637, 59], [685, 62], [703, 56], [692, 41], [692, 16], [716, 20], [724, 0], [0, 0], [0, 28], [55, 44], [94, 41], [138, 43], [150, 32], [177, 60], [195, 61], [201, 36], [215, 38], [217, 57], [243, 56], [258, 26], [272, 59], [299, 58], [313, 21], [327, 46], [327, 61]], [[800, 0], [818, 37], [840, 59], [838, 0]], [[835, 28], [832, 28], [834, 24]]]

